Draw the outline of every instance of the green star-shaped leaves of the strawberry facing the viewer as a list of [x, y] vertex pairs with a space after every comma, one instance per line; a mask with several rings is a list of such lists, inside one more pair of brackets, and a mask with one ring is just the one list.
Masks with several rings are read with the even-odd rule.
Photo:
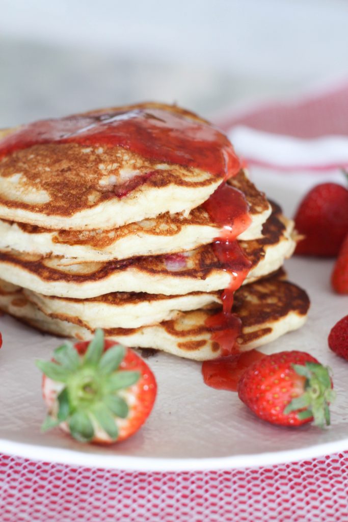
[[104, 333], [98, 329], [84, 355], [67, 341], [54, 351], [53, 361], [36, 361], [46, 377], [61, 383], [57, 410], [46, 417], [42, 431], [65, 422], [80, 442], [91, 441], [99, 427], [116, 441], [116, 420], [128, 416], [123, 390], [140, 378], [138, 371], [119, 369], [125, 353], [122, 345], [104, 351]]

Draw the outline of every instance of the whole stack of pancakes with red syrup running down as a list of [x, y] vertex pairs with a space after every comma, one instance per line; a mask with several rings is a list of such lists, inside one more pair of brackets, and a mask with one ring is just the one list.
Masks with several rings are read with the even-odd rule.
[[3, 132], [0, 218], [0, 309], [54, 335], [103, 328], [130, 347], [208, 360], [306, 319], [308, 297], [281, 269], [293, 222], [227, 138], [177, 106]]

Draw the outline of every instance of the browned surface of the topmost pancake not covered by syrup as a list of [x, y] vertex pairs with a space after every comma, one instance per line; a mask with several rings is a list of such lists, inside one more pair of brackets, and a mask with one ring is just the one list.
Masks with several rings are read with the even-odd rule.
[[[136, 108], [159, 108], [190, 120], [207, 123], [196, 114], [175, 105], [143, 103], [113, 110]], [[86, 114], [107, 111], [105, 109]], [[47, 216], [71, 217], [79, 211], [116, 199], [115, 186], [122, 186], [126, 182], [121, 179], [120, 171], [130, 167], [140, 176], [153, 172], [142, 187], [163, 187], [170, 184], [202, 187], [216, 183], [218, 179], [223, 180], [223, 174], [211, 175], [209, 172], [175, 164], [170, 164], [170, 168], [166, 170], [158, 169], [159, 163], [158, 160], [144, 158], [123, 147], [86, 147], [74, 143], [33, 145], [5, 156], [0, 161], [0, 177], [21, 173], [22, 179], [18, 181], [18, 185], [22, 189], [27, 186], [36, 191], [45, 191], [49, 201], [35, 206], [0, 194], [0, 203]], [[112, 182], [101, 184], [102, 180], [107, 180], [110, 176], [114, 178]], [[133, 192], [136, 193], [137, 189]]]

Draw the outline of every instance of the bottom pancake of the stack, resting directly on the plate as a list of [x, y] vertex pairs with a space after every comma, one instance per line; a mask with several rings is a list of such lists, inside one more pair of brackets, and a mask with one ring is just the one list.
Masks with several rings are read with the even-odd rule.
[[[238, 338], [239, 350], [246, 351], [264, 345], [301, 327], [306, 321], [309, 299], [295, 284], [272, 277], [248, 284], [235, 293], [233, 312], [242, 320]], [[30, 303], [25, 294], [8, 283], [0, 282], [0, 309], [45, 332], [80, 340], [91, 339], [89, 329], [54, 319]], [[176, 319], [153, 326], [134, 329], [109, 329], [108, 338], [126, 346], [155, 348], [179, 357], [204, 361], [221, 355], [205, 322], [217, 310], [183, 312]]]

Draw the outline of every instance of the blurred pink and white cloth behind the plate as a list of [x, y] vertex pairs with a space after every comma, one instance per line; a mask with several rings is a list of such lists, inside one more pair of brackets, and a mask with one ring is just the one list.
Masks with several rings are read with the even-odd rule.
[[348, 168], [348, 89], [262, 106], [222, 121], [248, 165], [278, 171]]

